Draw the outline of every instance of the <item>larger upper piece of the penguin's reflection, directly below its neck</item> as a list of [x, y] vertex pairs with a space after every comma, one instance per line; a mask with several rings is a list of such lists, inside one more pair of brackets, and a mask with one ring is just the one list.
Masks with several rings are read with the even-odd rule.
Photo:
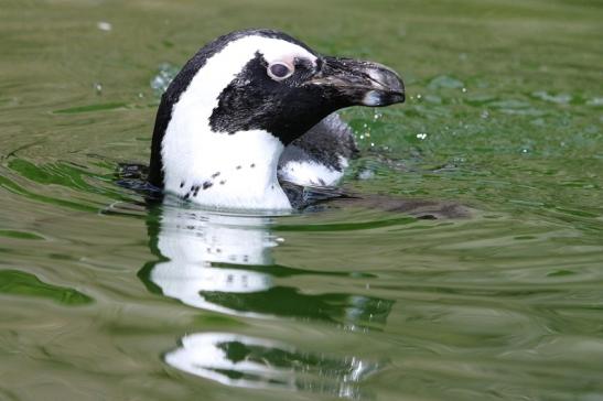
[[351, 274], [274, 264], [271, 250], [280, 239], [269, 232], [270, 217], [163, 205], [149, 220], [151, 248], [161, 259], [147, 264], [139, 277], [151, 291], [184, 304], [235, 315], [379, 328], [394, 303], [346, 293], [305, 294], [277, 285], [276, 278]]

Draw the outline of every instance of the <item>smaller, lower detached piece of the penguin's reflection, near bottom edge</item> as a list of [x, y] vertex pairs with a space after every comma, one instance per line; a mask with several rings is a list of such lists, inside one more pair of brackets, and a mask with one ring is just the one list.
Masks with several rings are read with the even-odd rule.
[[170, 366], [230, 387], [321, 392], [359, 399], [359, 382], [380, 364], [330, 357], [287, 344], [231, 333], [196, 333], [164, 356]]

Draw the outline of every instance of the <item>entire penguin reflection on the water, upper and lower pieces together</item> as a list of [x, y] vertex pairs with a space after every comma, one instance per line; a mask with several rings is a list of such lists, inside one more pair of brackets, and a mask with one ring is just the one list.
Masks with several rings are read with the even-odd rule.
[[[392, 302], [352, 294], [303, 294], [276, 284], [299, 274], [348, 275], [274, 264], [280, 242], [269, 217], [222, 215], [164, 204], [149, 215], [159, 261], [139, 273], [153, 292], [219, 313], [327, 321], [348, 327], [385, 324]], [[363, 397], [360, 381], [381, 364], [309, 353], [272, 339], [234, 333], [194, 333], [164, 355], [170, 366], [226, 386]]]

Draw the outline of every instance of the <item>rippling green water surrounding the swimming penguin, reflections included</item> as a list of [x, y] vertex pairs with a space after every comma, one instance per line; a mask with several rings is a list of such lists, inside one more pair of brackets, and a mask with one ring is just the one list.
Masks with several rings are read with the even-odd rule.
[[[603, 400], [602, 21], [595, 0], [0, 0], [0, 399]], [[115, 185], [148, 160], [151, 82], [248, 26], [399, 71], [407, 104], [343, 113], [345, 185], [474, 216], [220, 216]]]

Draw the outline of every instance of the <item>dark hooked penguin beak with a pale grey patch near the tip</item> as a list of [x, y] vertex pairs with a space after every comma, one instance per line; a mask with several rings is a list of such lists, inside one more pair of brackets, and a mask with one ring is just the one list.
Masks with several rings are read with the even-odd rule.
[[337, 57], [320, 61], [319, 72], [306, 85], [323, 87], [337, 102], [380, 107], [405, 101], [402, 79], [385, 65]]

